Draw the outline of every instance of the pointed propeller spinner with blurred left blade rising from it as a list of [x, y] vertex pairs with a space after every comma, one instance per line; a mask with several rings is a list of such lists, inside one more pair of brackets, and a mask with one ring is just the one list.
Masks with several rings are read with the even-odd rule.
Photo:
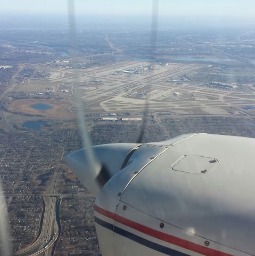
[[[78, 50], [78, 44], [76, 39], [75, 7], [73, 0], [68, 1], [68, 11], [70, 46], [71, 51], [75, 53]], [[75, 61], [73, 62], [73, 68], [78, 68]], [[125, 143], [92, 147], [81, 102], [81, 93], [77, 93], [76, 90], [73, 91], [76, 93], [78, 124], [84, 149], [67, 155], [65, 159], [71, 170], [77, 175], [77, 178], [96, 195], [98, 190], [104, 186], [112, 175], [121, 169], [126, 156], [136, 144]]]

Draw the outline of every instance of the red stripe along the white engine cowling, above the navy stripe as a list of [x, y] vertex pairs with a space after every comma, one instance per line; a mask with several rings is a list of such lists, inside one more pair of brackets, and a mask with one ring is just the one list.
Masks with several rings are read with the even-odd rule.
[[168, 235], [166, 233], [162, 233], [158, 230], [146, 227], [144, 225], [141, 225], [137, 222], [131, 221], [129, 219], [126, 219], [124, 217], [121, 217], [120, 215], [113, 213], [113, 212], [109, 212], [107, 210], [102, 209], [101, 207], [95, 205], [94, 206], [94, 210], [102, 215], [104, 215], [105, 217], [108, 217], [110, 219], [113, 219], [114, 221], [117, 221], [125, 226], [128, 226], [130, 228], [133, 228], [139, 232], [142, 232], [146, 235], [152, 236], [154, 238], [160, 239], [164, 242], [170, 243], [170, 244], [174, 244], [180, 247], [183, 247], [187, 250], [196, 252], [196, 253], [200, 253], [203, 255], [207, 255], [207, 256], [232, 256], [231, 254], [225, 253], [225, 252], [220, 252], [214, 249], [210, 249], [208, 247], [204, 247], [202, 245], [199, 244], [195, 244], [192, 243], [190, 241], [186, 241], [182, 238], [178, 238], [175, 236], [171, 236]]

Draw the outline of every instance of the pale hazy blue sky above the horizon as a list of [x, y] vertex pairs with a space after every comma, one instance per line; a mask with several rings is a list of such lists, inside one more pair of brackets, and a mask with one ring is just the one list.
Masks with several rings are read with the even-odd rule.
[[[150, 0], [76, 0], [77, 14], [150, 15]], [[160, 15], [255, 17], [254, 0], [159, 0]], [[67, 0], [1, 0], [0, 13], [67, 14]]]

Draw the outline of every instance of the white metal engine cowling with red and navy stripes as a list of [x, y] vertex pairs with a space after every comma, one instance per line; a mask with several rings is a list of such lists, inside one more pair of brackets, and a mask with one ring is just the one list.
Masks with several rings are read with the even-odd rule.
[[96, 197], [103, 255], [255, 255], [254, 152], [213, 134], [139, 146]]

